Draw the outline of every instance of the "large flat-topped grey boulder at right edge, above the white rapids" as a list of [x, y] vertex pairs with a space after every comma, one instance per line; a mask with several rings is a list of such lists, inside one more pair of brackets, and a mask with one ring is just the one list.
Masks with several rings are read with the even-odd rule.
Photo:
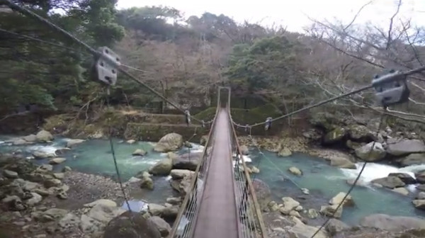
[[425, 144], [421, 140], [387, 141], [387, 153], [393, 156], [402, 156], [412, 153], [425, 153]]

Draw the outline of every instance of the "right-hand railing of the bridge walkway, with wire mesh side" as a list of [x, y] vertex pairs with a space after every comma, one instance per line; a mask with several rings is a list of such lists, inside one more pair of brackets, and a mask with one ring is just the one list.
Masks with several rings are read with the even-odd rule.
[[246, 166], [244, 156], [241, 153], [237, 134], [232, 123], [232, 115], [230, 113], [230, 89], [227, 90], [229, 91], [229, 102], [227, 104], [229, 126], [232, 128], [230, 132], [230, 146], [234, 164], [234, 193], [241, 226], [239, 227], [240, 234], [242, 238], [266, 238], [267, 233], [263, 223], [263, 216], [261, 215], [261, 208], [256, 199], [254, 186], [252, 185], [251, 177], [248, 172], [249, 168]]

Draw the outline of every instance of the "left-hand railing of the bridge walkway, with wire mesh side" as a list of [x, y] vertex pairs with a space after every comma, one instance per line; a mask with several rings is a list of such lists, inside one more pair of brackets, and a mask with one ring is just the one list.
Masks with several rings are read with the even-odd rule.
[[186, 196], [181, 205], [179, 214], [176, 217], [174, 225], [171, 229], [169, 237], [171, 238], [190, 238], [193, 237], [193, 229], [196, 225], [198, 216], [198, 210], [200, 208], [200, 202], [203, 197], [205, 177], [208, 174], [208, 166], [210, 164], [210, 158], [212, 155], [212, 145], [214, 145], [214, 136], [212, 132], [215, 130], [215, 120], [217, 118], [217, 112], [220, 109], [220, 91], [217, 98], [217, 109], [215, 117], [212, 120], [210, 132], [208, 134], [208, 140], [205, 143], [202, 157], [198, 166], [196, 167], [195, 173], [191, 179], [191, 186], [186, 191]]

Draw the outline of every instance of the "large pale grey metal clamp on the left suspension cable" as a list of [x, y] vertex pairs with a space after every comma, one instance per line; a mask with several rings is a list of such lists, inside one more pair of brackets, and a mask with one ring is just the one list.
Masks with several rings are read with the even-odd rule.
[[120, 57], [108, 47], [99, 47], [94, 72], [98, 80], [104, 84], [113, 86], [117, 82], [118, 68], [120, 67]]

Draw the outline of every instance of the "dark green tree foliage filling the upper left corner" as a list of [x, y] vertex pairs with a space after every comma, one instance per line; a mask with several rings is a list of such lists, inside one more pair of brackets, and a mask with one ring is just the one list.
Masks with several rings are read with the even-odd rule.
[[[124, 35], [123, 27], [115, 21], [116, 0], [17, 2], [89, 45], [113, 45]], [[18, 13], [0, 13], [0, 28], [81, 50], [60, 33]], [[62, 108], [58, 103], [69, 101], [81, 106], [99, 88], [86, 80], [92, 57], [84, 50], [73, 52], [7, 33], [2, 33], [0, 40], [0, 111], [28, 104], [56, 109]]]

